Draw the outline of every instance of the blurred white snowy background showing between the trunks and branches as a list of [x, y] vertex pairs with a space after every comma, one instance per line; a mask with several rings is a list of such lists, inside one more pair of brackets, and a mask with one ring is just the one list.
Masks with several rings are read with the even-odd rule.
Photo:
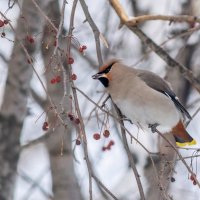
[[[72, 2], [73, 1], [71, 0], [68, 1], [68, 4], [66, 6], [66, 16], [69, 16]], [[139, 7], [141, 10], [148, 10], [150, 14], [178, 15], [182, 12], [181, 5], [183, 2], [184, 1], [181, 0], [141, 0], [139, 1]], [[93, 19], [95, 19], [95, 23], [99, 27], [100, 32], [102, 32], [102, 34], [107, 39], [107, 42], [109, 44], [109, 49], [107, 50], [109, 57], [114, 56], [122, 58], [126, 64], [135, 66], [137, 61], [140, 60], [140, 58], [143, 56], [141, 54], [142, 47], [139, 39], [125, 27], [118, 29], [119, 19], [113, 9], [110, 9], [108, 1], [87, 0], [86, 3], [89, 7], [91, 16], [93, 17]], [[130, 1], [121, 0], [121, 3], [127, 10], [128, 14], [132, 16], [133, 13]], [[7, 2], [1, 1], [0, 11], [5, 12], [6, 9]], [[198, 12], [200, 12], [200, 6], [196, 7], [195, 9], [196, 15], [198, 16]], [[15, 6], [7, 13], [7, 17], [11, 20], [13, 26], [16, 26], [16, 20], [18, 16], [19, 9], [17, 6]], [[82, 9], [80, 5], [78, 5], [75, 17], [74, 35], [81, 43], [87, 45], [86, 54], [93, 59], [96, 65], [98, 65], [93, 34], [88, 24], [83, 23], [84, 19], [85, 18]], [[67, 29], [67, 27], [69, 26], [69, 17], [65, 17], [64, 22]], [[175, 28], [178, 28], [178, 26], [182, 28], [184, 25], [169, 25], [169, 22], [150, 21], [143, 25], [142, 30], [149, 37], [153, 38], [157, 44], [160, 44], [163, 41], [167, 40], [170, 37], [171, 31]], [[11, 31], [7, 32], [7, 37], [11, 40], [14, 40], [13, 33]], [[199, 43], [199, 33], [199, 31], [194, 33], [189, 39], [188, 43]], [[172, 57], [175, 57], [181, 46], [181, 40], [176, 39], [168, 42], [165, 47], [170, 50], [170, 55]], [[6, 57], [6, 59], [10, 58], [12, 47], [12, 42], [0, 38], [0, 52]], [[104, 51], [105, 49], [106, 47], [102, 45], [102, 50]], [[38, 54], [35, 55], [36, 62], [34, 65], [36, 70], [42, 77], [44, 68], [40, 54], [41, 52], [38, 52]], [[105, 59], [107, 58], [105, 57]], [[197, 62], [197, 60], [195, 60], [195, 62]], [[198, 63], [194, 63], [194, 65], [195, 64], [198, 66]], [[159, 74], [161, 77], [164, 77], [166, 73], [166, 64], [154, 53], [149, 54], [148, 58], [144, 59], [142, 62], [139, 62], [136, 67], [153, 71]], [[94, 68], [91, 68], [91, 66], [88, 65], [84, 58], [81, 58], [77, 55], [76, 62], [73, 65], [73, 71], [78, 76], [78, 79], [75, 82], [76, 86], [84, 91], [95, 102], [97, 102], [102, 95], [103, 87], [99, 82], [94, 81], [91, 78], [91, 75], [93, 75], [96, 70], [94, 70]], [[7, 64], [2, 59], [0, 59], [0, 103], [2, 103], [6, 76]], [[32, 87], [34, 87], [34, 89], [37, 90], [41, 96], [45, 97], [45, 93], [35, 76], [33, 76], [31, 84]], [[198, 98], [199, 94], [193, 91], [191, 93], [188, 105]], [[90, 114], [91, 110], [94, 108], [94, 105], [87, 101], [82, 95], [79, 95], [79, 101], [83, 117], [85, 121], [87, 121], [87, 117]], [[195, 104], [195, 106], [189, 109], [189, 112], [193, 114], [199, 108], [199, 106], [200, 103], [198, 102], [197, 104]], [[30, 108], [31, 115], [28, 116], [25, 120], [20, 138], [21, 144], [25, 144], [28, 141], [40, 137], [44, 134], [41, 127], [44, 120], [43, 118], [45, 116], [42, 116], [42, 118], [36, 123], [36, 120], [43, 112], [43, 110], [31, 98], [29, 99], [28, 107]], [[200, 144], [199, 120], [200, 114], [198, 114], [192, 120], [187, 129], [191, 133], [191, 135], [197, 140], [198, 144]], [[147, 147], [152, 152], [157, 152], [157, 136], [155, 134], [146, 133], [138, 130], [137, 127], [129, 125], [129, 123], [126, 123], [126, 126], [131, 131], [131, 133], [144, 144], [145, 147]], [[132, 170], [128, 167], [128, 159], [121, 142], [121, 137], [116, 131], [116, 124], [112, 120], [110, 120], [111, 139], [115, 141], [115, 145], [113, 146], [111, 151], [102, 152], [102, 146], [107, 143], [106, 139], [102, 139], [100, 141], [95, 141], [93, 139], [93, 133], [99, 131], [100, 127], [97, 126], [96, 118], [93, 116], [91, 120], [89, 120], [89, 122], [87, 122], [86, 124], [86, 133], [88, 136], [89, 153], [91, 161], [93, 163], [93, 167], [95, 169], [95, 173], [100, 178], [100, 180], [120, 199], [138, 199], [139, 193], [137, 191], [135, 178], [132, 174]], [[195, 146], [195, 148], [198, 147], [199, 145]], [[130, 144], [130, 148], [131, 151], [134, 152], [134, 154], [138, 155], [137, 167], [146, 190], [147, 184], [145, 184], [146, 179], [143, 175], [143, 168], [146, 164], [147, 153], [140, 147], [139, 144], [134, 141], [132, 144]], [[192, 153], [193, 151], [191, 150], [181, 151], [181, 154], [183, 156], [191, 156]], [[85, 161], [83, 160], [83, 151], [81, 147], [76, 147], [75, 156], [78, 160], [78, 162], [74, 161], [77, 178], [81, 186], [82, 194], [85, 196], [85, 199], [88, 199], [88, 173]], [[190, 163], [190, 159], [187, 159], [187, 162]], [[199, 159], [197, 159], [195, 162], [197, 162], [198, 169], [200, 164]], [[23, 171], [23, 173], [25, 173], [25, 175], [30, 177], [32, 180], [39, 180], [39, 187], [32, 188], [25, 179], [23, 179], [22, 177], [18, 177], [15, 190], [15, 200], [45, 200], [46, 197], [42, 195], [41, 188], [42, 190], [44, 190], [44, 192], [51, 193], [52, 182], [50, 165], [48, 153], [43, 144], [32, 146], [21, 152], [18, 171]], [[192, 182], [188, 179], [188, 172], [180, 161], [177, 162], [174, 178], [176, 179], [176, 181], [174, 183], [171, 183], [170, 193], [175, 200], [181, 200], [183, 198], [187, 200], [200, 199], [199, 188], [197, 186], [194, 186]], [[29, 194], [30, 192], [31, 195]], [[95, 200], [102, 200], [102, 197], [100, 196], [97, 187], [94, 187], [94, 193]]]

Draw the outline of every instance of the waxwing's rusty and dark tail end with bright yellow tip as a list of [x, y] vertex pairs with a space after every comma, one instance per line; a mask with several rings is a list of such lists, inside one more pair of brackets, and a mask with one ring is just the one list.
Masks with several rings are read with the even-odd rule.
[[189, 133], [185, 130], [185, 127], [181, 121], [172, 129], [177, 146], [183, 147], [186, 145], [195, 145], [194, 140]]

